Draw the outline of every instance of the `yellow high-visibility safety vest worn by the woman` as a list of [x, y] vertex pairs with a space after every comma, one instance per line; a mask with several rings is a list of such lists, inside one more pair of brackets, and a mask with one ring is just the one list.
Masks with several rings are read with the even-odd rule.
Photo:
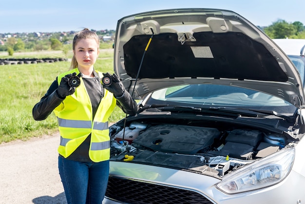
[[[58, 84], [61, 78], [67, 74], [76, 72], [77, 68], [60, 74], [57, 77]], [[96, 71], [99, 75], [99, 73]], [[110, 158], [110, 138], [108, 118], [116, 105], [114, 95], [104, 89], [104, 97], [97, 108], [93, 119], [92, 104], [82, 78], [80, 85], [74, 94], [67, 96], [55, 109], [60, 133], [60, 145], [58, 153], [67, 158], [76, 148], [85, 141], [91, 133], [89, 157], [93, 162], [101, 162]]]

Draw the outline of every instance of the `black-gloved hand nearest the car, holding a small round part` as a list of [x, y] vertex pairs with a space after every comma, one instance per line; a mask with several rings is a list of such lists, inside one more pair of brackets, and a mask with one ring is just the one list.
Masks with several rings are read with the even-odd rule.
[[125, 89], [121, 80], [115, 75], [111, 75], [108, 72], [104, 74], [102, 78], [102, 83], [104, 88], [114, 94], [114, 97], [120, 98], [124, 95]]

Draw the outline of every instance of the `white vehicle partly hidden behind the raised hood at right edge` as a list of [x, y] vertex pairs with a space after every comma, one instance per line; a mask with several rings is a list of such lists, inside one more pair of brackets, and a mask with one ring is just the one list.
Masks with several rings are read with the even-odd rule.
[[300, 72], [303, 86], [305, 85], [305, 39], [272, 39], [288, 55]]

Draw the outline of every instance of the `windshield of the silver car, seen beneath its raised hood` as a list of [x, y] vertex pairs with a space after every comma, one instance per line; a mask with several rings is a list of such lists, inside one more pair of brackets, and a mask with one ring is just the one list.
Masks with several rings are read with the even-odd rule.
[[266, 93], [213, 84], [188, 84], [163, 88], [152, 93], [149, 103], [194, 107], [256, 108], [275, 110], [279, 113], [293, 113], [296, 110], [291, 103]]

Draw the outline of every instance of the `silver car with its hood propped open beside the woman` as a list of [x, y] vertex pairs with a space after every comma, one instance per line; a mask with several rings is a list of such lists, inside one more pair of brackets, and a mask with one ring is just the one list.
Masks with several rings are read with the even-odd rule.
[[263, 31], [222, 9], [118, 20], [114, 73], [135, 115], [109, 127], [103, 204], [305, 202], [305, 94]]

